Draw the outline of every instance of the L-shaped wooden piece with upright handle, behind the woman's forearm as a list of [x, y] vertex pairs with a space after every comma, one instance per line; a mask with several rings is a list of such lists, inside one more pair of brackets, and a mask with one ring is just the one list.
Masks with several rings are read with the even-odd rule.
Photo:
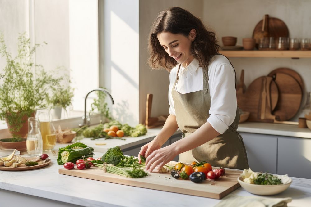
[[153, 94], [147, 94], [147, 101], [146, 101], [146, 128], [154, 128], [157, 126], [164, 125], [168, 116], [161, 115], [158, 117], [151, 117], [151, 106], [152, 106], [152, 98]]

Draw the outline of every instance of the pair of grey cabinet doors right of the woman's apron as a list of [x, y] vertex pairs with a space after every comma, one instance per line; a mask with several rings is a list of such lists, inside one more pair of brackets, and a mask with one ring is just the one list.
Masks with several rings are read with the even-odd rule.
[[311, 178], [311, 139], [244, 133], [249, 167], [256, 172]]

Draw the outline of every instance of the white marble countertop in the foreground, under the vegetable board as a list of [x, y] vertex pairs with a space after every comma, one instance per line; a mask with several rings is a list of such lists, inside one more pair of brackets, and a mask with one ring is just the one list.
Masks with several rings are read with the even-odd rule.
[[[100, 157], [103, 153], [95, 152], [94, 157]], [[109, 182], [101, 182], [85, 178], [78, 178], [58, 174], [62, 165], [56, 163], [56, 155], [48, 153], [52, 163], [48, 166], [29, 171], [0, 171], [0, 189], [9, 193], [22, 193], [30, 196], [33, 206], [39, 202], [39, 198], [48, 201], [60, 201], [65, 205], [81, 206], [214, 206], [220, 200], [189, 196], [178, 193], [151, 190], [140, 187], [132, 187]], [[311, 180], [304, 178], [292, 178], [290, 188], [281, 194], [269, 196], [269, 198], [292, 197], [288, 206], [307, 206], [311, 203]], [[120, 199], [120, 194], [122, 199]], [[232, 194], [239, 196], [255, 196], [243, 188], [238, 188]], [[13, 194], [14, 204], [19, 199]], [[12, 195], [12, 196], [13, 196]], [[33, 197], [35, 196], [35, 197]], [[1, 195], [0, 195], [1, 197]], [[36, 198], [38, 197], [38, 200]], [[25, 203], [21, 199], [21, 203]], [[47, 202], [47, 201], [44, 201]], [[66, 204], [67, 203], [67, 204]], [[25, 205], [23, 205], [25, 206]], [[26, 205], [30, 206], [30, 205]]]

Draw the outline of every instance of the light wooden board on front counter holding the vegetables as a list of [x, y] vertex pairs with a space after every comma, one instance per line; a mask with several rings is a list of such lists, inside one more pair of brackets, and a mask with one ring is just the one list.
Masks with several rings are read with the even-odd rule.
[[[171, 162], [170, 164], [173, 165], [175, 163]], [[58, 170], [58, 173], [122, 185], [221, 199], [240, 187], [237, 178], [242, 171], [226, 169], [225, 176], [221, 176], [218, 180], [204, 180], [201, 183], [194, 183], [181, 178], [175, 179], [170, 173], [150, 173], [150, 176], [144, 178], [126, 178], [115, 174], [104, 173], [102, 169], [97, 167], [83, 170], [78, 170], [76, 167], [72, 170], [67, 170], [62, 167]]]

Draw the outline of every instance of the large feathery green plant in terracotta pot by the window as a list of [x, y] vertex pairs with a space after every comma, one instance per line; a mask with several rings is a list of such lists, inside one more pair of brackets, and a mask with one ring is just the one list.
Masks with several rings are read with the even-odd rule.
[[0, 54], [6, 60], [0, 74], [0, 119], [7, 122], [13, 137], [26, 137], [28, 117], [34, 116], [37, 108], [47, 107], [49, 94], [63, 78], [54, 78], [34, 63], [33, 55], [40, 44], [31, 47], [26, 33], [19, 36], [17, 46], [13, 58], [0, 33]]

